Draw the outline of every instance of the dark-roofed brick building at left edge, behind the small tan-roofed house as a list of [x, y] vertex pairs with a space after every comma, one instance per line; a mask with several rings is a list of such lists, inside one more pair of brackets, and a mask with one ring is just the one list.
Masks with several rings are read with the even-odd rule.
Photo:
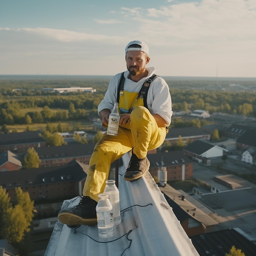
[[13, 132], [0, 134], [0, 153], [10, 150], [13, 153], [21, 154], [28, 148], [45, 147], [46, 141], [39, 136], [38, 132]]

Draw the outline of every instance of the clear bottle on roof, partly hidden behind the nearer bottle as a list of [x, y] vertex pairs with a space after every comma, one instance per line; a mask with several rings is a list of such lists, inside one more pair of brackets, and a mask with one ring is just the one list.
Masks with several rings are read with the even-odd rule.
[[119, 200], [119, 190], [115, 184], [115, 180], [107, 180], [104, 193], [109, 195], [110, 203], [113, 207], [114, 225], [119, 225], [121, 223], [120, 216], [120, 200]]

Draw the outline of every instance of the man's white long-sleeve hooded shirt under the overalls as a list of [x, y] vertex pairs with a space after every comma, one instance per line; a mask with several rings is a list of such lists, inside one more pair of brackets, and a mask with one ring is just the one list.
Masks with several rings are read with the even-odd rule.
[[[134, 82], [128, 78], [130, 75], [129, 71], [126, 70], [124, 72], [124, 90], [128, 92], [139, 92], [143, 83], [155, 73], [154, 67], [147, 67], [148, 76], [143, 77], [138, 82]], [[122, 73], [116, 74], [110, 80], [108, 85], [108, 90], [104, 96], [104, 99], [99, 103], [98, 113], [103, 109], [112, 109], [114, 103], [117, 101], [117, 89], [119, 80], [121, 78]], [[173, 115], [172, 105], [171, 105], [171, 94], [169, 91], [169, 87], [161, 77], [157, 76], [151, 83], [148, 89], [147, 96], [147, 105], [148, 110], [152, 114], [158, 114], [169, 126], [171, 124], [171, 116]]]

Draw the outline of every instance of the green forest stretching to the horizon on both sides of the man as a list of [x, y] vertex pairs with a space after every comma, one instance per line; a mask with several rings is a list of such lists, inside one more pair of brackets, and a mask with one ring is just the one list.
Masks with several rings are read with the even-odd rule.
[[[0, 125], [89, 120], [108, 88], [110, 76], [0, 76]], [[166, 77], [173, 110], [256, 117], [256, 79]], [[96, 92], [45, 92], [42, 88], [92, 87]]]

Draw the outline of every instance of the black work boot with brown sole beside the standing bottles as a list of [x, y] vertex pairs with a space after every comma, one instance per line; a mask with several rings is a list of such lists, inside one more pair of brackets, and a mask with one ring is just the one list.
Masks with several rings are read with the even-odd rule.
[[89, 196], [83, 196], [78, 205], [71, 209], [64, 209], [58, 213], [58, 220], [68, 226], [96, 225], [97, 202]]

